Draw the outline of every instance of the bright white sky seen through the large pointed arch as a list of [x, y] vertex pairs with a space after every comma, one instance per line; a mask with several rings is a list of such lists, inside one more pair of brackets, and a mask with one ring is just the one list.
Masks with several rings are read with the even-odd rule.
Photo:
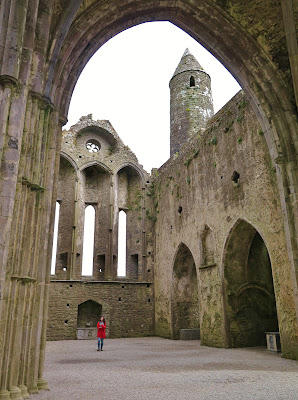
[[104, 44], [83, 70], [72, 96], [69, 129], [81, 116], [111, 122], [150, 172], [170, 154], [169, 81], [185, 51], [211, 76], [215, 112], [240, 86], [199, 43], [169, 22], [130, 28]]

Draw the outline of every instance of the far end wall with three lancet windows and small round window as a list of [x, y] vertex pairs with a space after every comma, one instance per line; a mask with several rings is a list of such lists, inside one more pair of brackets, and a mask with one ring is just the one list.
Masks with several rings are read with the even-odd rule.
[[[99, 152], [88, 152], [86, 142], [90, 140], [100, 143]], [[69, 171], [71, 177], [77, 177], [76, 186]], [[88, 300], [102, 306], [109, 337], [153, 334], [153, 223], [146, 214], [152, 200], [145, 196], [150, 180], [108, 121], [93, 121], [88, 115], [63, 132], [58, 199], [60, 215], [64, 214], [57, 262], [62, 250], [67, 257], [65, 265], [57, 271], [57, 264], [56, 274], [51, 276], [48, 340], [75, 339], [78, 306]], [[95, 208], [93, 275], [82, 276], [88, 204]], [[126, 277], [117, 277], [119, 209], [127, 214]]]

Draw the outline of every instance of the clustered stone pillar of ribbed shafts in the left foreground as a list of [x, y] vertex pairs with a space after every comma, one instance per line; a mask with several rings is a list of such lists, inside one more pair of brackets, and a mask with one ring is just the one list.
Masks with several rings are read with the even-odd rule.
[[[24, 106], [24, 96], [17, 100], [20, 99]], [[15, 124], [22, 124], [22, 140], [16, 137], [12, 140], [12, 136], [8, 136], [8, 146], [3, 151], [2, 167], [11, 164], [8, 171], [12, 173], [15, 169], [11, 161], [15, 160], [18, 166], [17, 176], [12, 177], [8, 173], [6, 180], [11, 183], [10, 190], [14, 189], [14, 207], [7, 218], [10, 240], [6, 247], [6, 260], [3, 259], [7, 268], [1, 301], [1, 370], [5, 373], [1, 376], [0, 399], [9, 396], [13, 399], [26, 398], [27, 389], [37, 392], [38, 379], [42, 379], [39, 365], [44, 362], [43, 357], [40, 362], [40, 355], [44, 354], [41, 340], [45, 343], [45, 278], [51, 248], [48, 248], [47, 239], [53, 184], [57, 178], [53, 170], [60, 149], [57, 113], [53, 113], [52, 109], [52, 105], [40, 95], [30, 93], [26, 114], [21, 118], [11, 118], [12, 123], [9, 122], [7, 129], [7, 132], [10, 129], [19, 132], [21, 127], [17, 129]], [[54, 121], [50, 123], [53, 116]], [[9, 163], [5, 156], [11, 160]], [[2, 176], [5, 177], [5, 173]], [[2, 191], [2, 194], [5, 193]], [[43, 381], [40, 386], [44, 388], [45, 385]]]

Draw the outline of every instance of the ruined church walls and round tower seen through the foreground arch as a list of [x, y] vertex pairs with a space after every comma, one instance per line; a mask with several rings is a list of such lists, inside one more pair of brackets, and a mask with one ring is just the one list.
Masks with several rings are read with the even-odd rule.
[[50, 340], [95, 338], [100, 314], [109, 337], [191, 329], [205, 345], [244, 347], [279, 331], [272, 268], [286, 246], [261, 126], [242, 92], [213, 116], [210, 77], [188, 49], [170, 94], [171, 158], [151, 176], [109, 121], [89, 115], [63, 131]]

